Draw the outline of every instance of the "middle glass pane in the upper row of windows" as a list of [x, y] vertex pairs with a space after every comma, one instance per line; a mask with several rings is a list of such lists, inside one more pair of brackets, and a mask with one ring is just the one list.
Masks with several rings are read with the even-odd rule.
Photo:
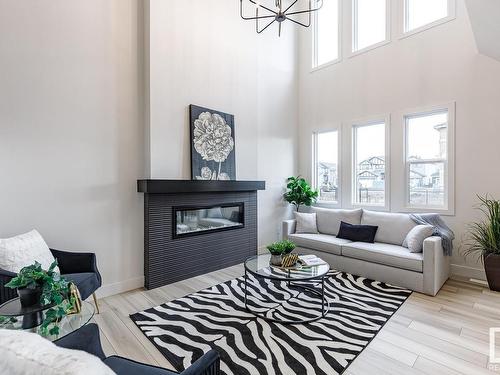
[[354, 0], [353, 51], [386, 39], [386, 0]]

